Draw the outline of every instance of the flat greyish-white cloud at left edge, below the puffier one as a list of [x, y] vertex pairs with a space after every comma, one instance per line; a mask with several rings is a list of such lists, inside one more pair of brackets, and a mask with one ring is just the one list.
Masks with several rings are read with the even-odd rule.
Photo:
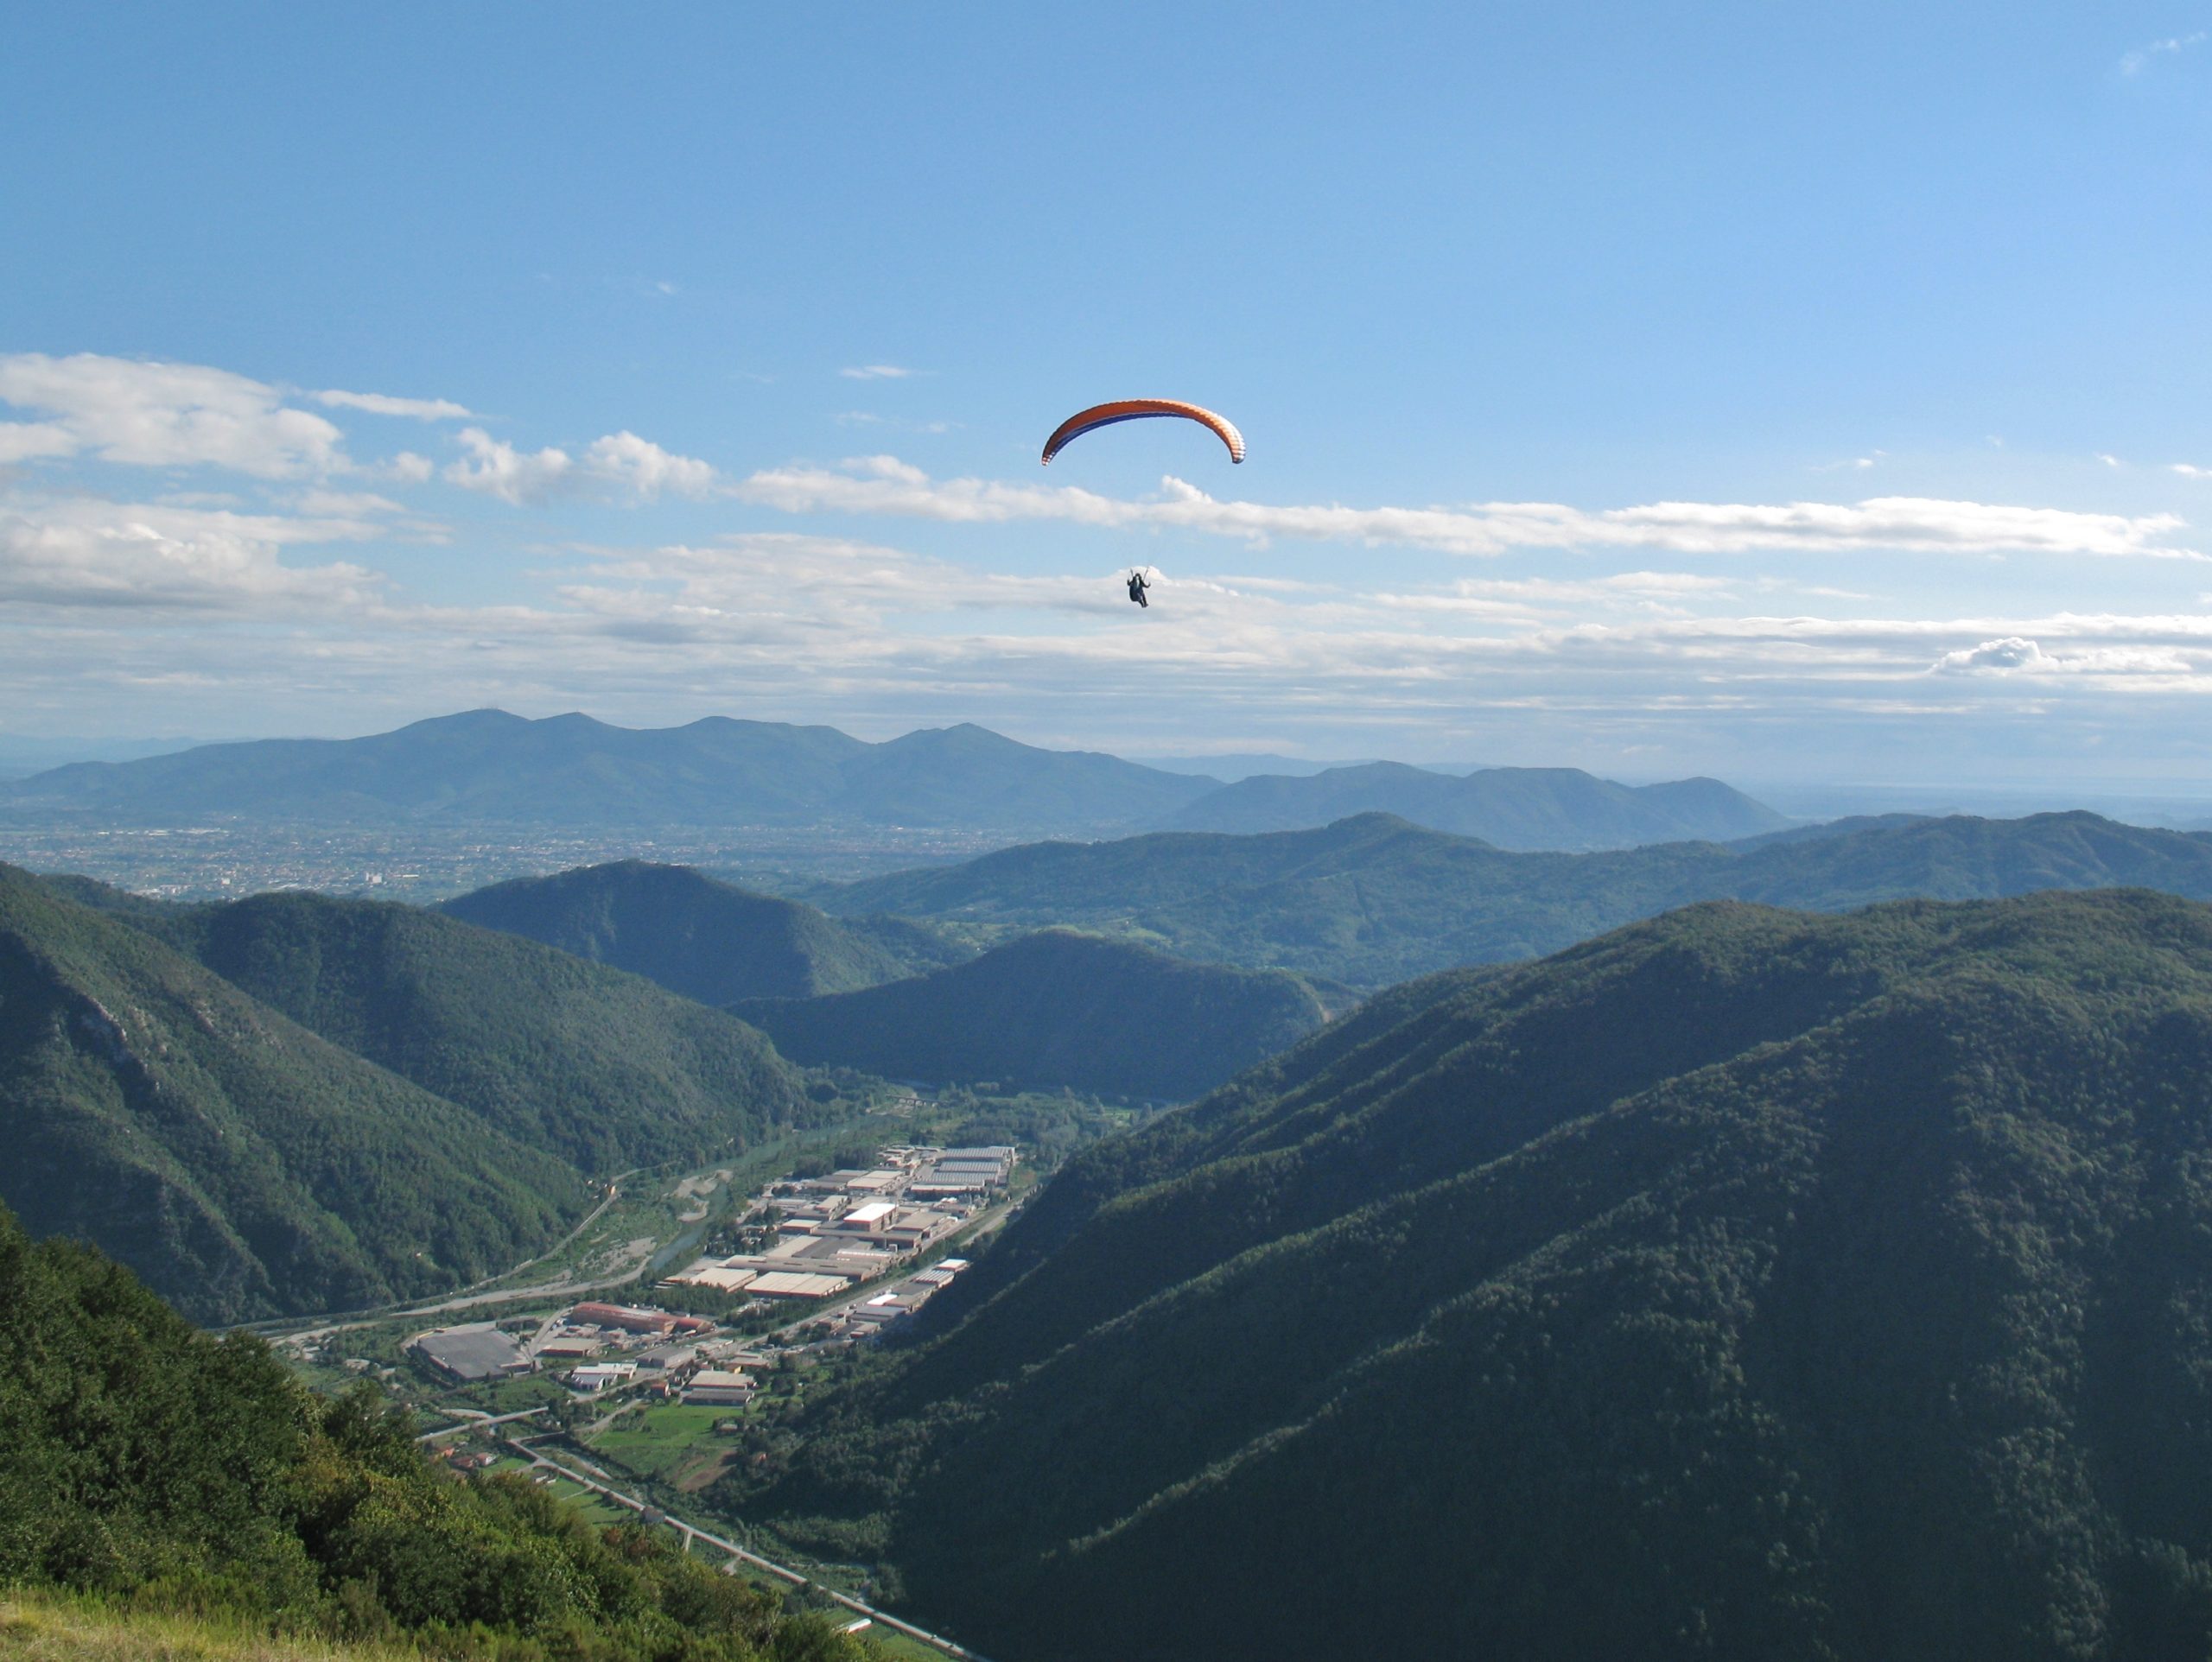
[[285, 566], [288, 544], [361, 541], [352, 517], [283, 517], [95, 497], [0, 502], [0, 601], [268, 610], [347, 603], [380, 581], [352, 564]]

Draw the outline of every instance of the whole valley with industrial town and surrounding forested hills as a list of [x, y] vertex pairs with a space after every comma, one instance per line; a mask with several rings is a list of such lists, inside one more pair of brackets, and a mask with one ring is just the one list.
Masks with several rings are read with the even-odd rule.
[[[1573, 853], [1365, 813], [787, 886], [0, 869], [38, 1160], [0, 1200], [438, 1481], [878, 1653], [2188, 1620], [2212, 1525], [2130, 1426], [2197, 1414], [2159, 1313], [2212, 1273], [2212, 838]], [[1867, 1392], [1960, 1419], [1871, 1430]], [[2051, 1452], [1991, 1492], [1997, 1445]], [[1898, 1558], [1905, 1492], [1971, 1529]], [[1192, 1569], [1223, 1551], [1234, 1585]]]

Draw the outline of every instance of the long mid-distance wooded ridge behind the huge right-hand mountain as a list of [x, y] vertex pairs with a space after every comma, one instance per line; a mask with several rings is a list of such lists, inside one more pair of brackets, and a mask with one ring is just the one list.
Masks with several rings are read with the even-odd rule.
[[2037, 888], [2150, 886], [2212, 897], [2212, 835], [2095, 813], [1902, 820], [1732, 849], [1506, 853], [1383, 813], [1321, 831], [1040, 842], [814, 900], [832, 913], [1075, 924], [1208, 964], [1378, 988], [1455, 964], [1537, 957], [1699, 900], [1843, 911]]

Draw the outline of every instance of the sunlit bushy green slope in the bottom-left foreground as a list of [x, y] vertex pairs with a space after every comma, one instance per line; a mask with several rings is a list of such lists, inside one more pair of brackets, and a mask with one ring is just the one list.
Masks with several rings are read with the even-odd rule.
[[[310, 1397], [261, 1342], [195, 1333], [128, 1271], [31, 1244], [4, 1209], [0, 1304], [0, 1587], [117, 1611], [86, 1622], [97, 1607], [31, 1598], [0, 1653], [181, 1662], [363, 1638], [378, 1655], [487, 1662], [865, 1655], [666, 1538], [595, 1529], [520, 1476], [434, 1470], [374, 1386]], [[150, 1620], [161, 1611], [208, 1631]], [[241, 1629], [263, 1642], [232, 1647]]]

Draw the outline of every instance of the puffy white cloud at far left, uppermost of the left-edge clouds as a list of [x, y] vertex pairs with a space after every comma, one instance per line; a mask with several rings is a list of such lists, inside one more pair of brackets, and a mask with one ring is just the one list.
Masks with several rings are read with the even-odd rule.
[[274, 387], [228, 369], [20, 351], [0, 356], [0, 400], [53, 418], [33, 424], [33, 438], [15, 438], [18, 446], [35, 444], [38, 455], [208, 464], [263, 480], [345, 466], [336, 427], [288, 409]]

